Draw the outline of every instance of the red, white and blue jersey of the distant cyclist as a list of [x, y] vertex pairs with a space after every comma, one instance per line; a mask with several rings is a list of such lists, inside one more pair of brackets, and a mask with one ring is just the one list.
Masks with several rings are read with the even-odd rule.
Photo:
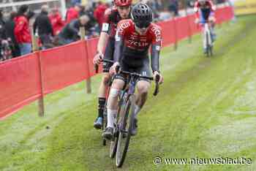
[[211, 0], [206, 1], [205, 4], [200, 4], [198, 1], [195, 2], [195, 12], [197, 18], [200, 18], [201, 22], [206, 22], [209, 16], [214, 15], [214, 4]]

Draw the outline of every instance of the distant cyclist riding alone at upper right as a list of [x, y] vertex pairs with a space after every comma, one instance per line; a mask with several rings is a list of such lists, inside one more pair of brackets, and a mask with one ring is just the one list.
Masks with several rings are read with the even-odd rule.
[[[211, 38], [213, 41], [216, 39], [216, 34], [214, 33], [214, 24], [216, 21], [214, 17], [215, 9], [216, 7], [211, 0], [197, 0], [195, 2], [195, 23], [206, 23], [209, 21], [211, 27]], [[206, 48], [204, 50], [206, 52]]]

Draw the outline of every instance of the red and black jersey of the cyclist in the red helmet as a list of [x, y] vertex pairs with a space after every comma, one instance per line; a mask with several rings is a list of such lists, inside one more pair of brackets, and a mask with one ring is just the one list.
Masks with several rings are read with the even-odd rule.
[[102, 31], [108, 33], [112, 38], [115, 37], [116, 26], [120, 20], [122, 20], [121, 16], [115, 6], [106, 9], [102, 22]]

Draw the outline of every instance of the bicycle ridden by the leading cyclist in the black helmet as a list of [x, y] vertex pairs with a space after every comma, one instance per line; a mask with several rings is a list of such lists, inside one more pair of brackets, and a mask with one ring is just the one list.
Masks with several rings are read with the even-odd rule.
[[[110, 60], [103, 59], [102, 61], [111, 62]], [[119, 68], [116, 69], [119, 71]], [[147, 77], [140, 75], [136, 72], [124, 72], [118, 73], [127, 75], [127, 84], [124, 86], [123, 91], [119, 94], [118, 100], [118, 113], [114, 121], [114, 136], [110, 142], [110, 158], [113, 159], [116, 156], [116, 166], [121, 167], [124, 164], [124, 159], [129, 147], [129, 140], [131, 137], [132, 126], [135, 121], [135, 87], [139, 78], [145, 78], [148, 80], [154, 80], [153, 77]], [[159, 75], [156, 78], [156, 87], [154, 90], [154, 96], [157, 96], [159, 92]]]

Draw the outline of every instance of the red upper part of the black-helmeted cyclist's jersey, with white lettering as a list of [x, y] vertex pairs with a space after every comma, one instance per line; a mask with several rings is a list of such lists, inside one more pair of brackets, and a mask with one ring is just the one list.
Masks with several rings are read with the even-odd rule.
[[139, 52], [148, 52], [150, 45], [157, 45], [157, 50], [160, 50], [162, 45], [162, 32], [157, 24], [151, 23], [145, 34], [140, 35], [135, 30], [135, 23], [129, 20], [121, 20], [118, 23], [118, 32], [116, 40], [119, 36], [124, 39], [125, 49], [138, 50]]

